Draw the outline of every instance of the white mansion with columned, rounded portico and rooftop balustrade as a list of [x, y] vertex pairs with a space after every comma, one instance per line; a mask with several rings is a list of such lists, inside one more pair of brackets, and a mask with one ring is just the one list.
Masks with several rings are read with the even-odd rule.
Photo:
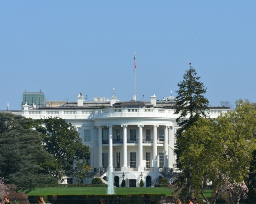
[[[84, 179], [84, 183], [91, 183], [92, 177], [105, 178], [111, 169], [117, 186], [121, 186], [124, 177], [126, 187], [139, 187], [141, 178], [144, 187], [148, 187], [157, 184], [161, 177], [171, 178], [175, 164], [174, 135], [179, 128], [178, 115], [174, 115], [175, 98], [157, 101], [155, 94], [150, 98], [150, 102], [120, 102], [111, 96], [110, 100], [98, 97], [88, 102], [81, 93], [77, 102], [66, 102], [59, 107], [29, 110], [25, 104], [23, 116], [32, 119], [58, 116], [77, 128], [83, 144], [90, 148], [88, 162], [93, 167], [91, 178]], [[210, 106], [210, 118], [227, 109]]]

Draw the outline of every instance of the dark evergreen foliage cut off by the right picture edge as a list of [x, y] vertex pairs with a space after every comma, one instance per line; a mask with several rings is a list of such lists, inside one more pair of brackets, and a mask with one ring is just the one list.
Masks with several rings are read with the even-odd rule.
[[250, 204], [256, 204], [256, 150], [253, 151], [253, 159], [250, 164], [249, 183], [248, 200]]

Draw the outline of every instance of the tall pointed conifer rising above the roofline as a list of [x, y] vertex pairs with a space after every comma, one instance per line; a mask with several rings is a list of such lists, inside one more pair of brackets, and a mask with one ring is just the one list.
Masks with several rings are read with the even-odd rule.
[[[181, 155], [186, 151], [185, 144], [189, 143], [189, 136], [184, 135], [183, 132], [187, 131], [195, 122], [202, 116], [207, 116], [207, 106], [209, 101], [203, 96], [206, 93], [206, 88], [202, 82], [199, 82], [199, 76], [197, 76], [196, 70], [190, 66], [189, 70], [183, 76], [183, 81], [178, 83], [177, 102], [175, 114], [179, 114], [176, 119], [177, 124], [180, 126], [176, 131], [176, 144], [175, 154], [177, 155], [177, 168], [181, 170], [185, 175], [184, 180], [186, 183], [184, 190], [187, 190], [188, 196], [191, 196], [192, 191], [192, 178], [191, 178], [191, 164], [188, 160], [186, 165], [180, 162]], [[181, 177], [179, 177], [181, 178]]]

